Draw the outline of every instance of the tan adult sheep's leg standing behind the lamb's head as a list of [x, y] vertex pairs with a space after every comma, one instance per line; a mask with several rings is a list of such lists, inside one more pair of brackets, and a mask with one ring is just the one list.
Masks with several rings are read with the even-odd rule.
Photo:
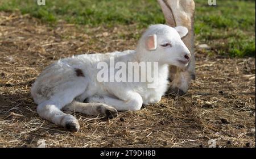
[[187, 92], [191, 80], [195, 80], [195, 56], [193, 50], [195, 2], [193, 0], [158, 0], [158, 2], [169, 26], [185, 26], [189, 30], [188, 35], [182, 39], [192, 55], [187, 69], [181, 70], [176, 66], [170, 66], [171, 90], [183, 95]]

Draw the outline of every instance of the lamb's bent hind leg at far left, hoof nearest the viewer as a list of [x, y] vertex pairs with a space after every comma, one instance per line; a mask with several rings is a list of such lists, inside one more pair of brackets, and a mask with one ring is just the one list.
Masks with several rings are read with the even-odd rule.
[[81, 80], [65, 82], [55, 89], [59, 91], [53, 94], [49, 100], [39, 103], [37, 108], [39, 116], [70, 131], [78, 131], [80, 126], [76, 118], [65, 114], [61, 109], [85, 91], [86, 82]]

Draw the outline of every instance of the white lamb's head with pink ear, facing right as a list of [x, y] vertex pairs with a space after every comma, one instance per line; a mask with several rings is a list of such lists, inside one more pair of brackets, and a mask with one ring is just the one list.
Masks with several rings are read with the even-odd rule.
[[187, 34], [188, 29], [183, 26], [172, 28], [164, 24], [152, 25], [139, 40], [137, 52], [145, 61], [185, 68], [191, 54], [181, 38]]

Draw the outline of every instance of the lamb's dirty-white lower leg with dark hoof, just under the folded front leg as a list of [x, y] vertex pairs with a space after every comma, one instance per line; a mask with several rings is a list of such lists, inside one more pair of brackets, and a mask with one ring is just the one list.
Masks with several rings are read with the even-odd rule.
[[108, 106], [103, 103], [82, 103], [75, 100], [65, 106], [63, 110], [77, 111], [93, 116], [101, 115], [110, 119], [115, 118], [118, 115], [117, 110], [112, 106]]

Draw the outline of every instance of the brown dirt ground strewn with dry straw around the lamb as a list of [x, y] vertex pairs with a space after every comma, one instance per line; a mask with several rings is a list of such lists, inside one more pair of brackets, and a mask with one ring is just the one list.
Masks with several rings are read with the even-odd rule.
[[255, 147], [255, 58], [207, 56], [199, 49], [196, 80], [183, 96], [167, 93], [158, 104], [111, 120], [76, 113], [77, 133], [39, 118], [30, 88], [47, 65], [134, 49], [141, 32], [136, 25], [107, 30], [61, 20], [48, 26], [0, 12], [0, 147], [38, 147], [42, 140], [46, 147], [209, 147], [211, 139], [217, 147]]

